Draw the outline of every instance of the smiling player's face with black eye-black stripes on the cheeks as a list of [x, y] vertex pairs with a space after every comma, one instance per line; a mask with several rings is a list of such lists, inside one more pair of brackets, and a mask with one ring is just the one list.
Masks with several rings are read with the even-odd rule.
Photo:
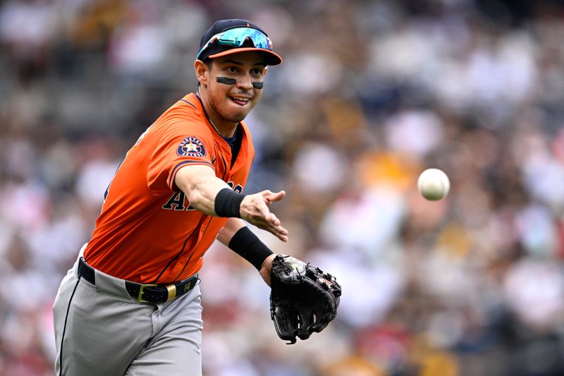
[[[213, 60], [207, 81], [207, 96], [213, 111], [225, 121], [238, 123], [245, 119], [262, 96], [262, 89], [252, 83], [262, 83], [266, 66], [258, 52], [241, 52]], [[219, 83], [217, 78], [231, 78], [233, 85]]]

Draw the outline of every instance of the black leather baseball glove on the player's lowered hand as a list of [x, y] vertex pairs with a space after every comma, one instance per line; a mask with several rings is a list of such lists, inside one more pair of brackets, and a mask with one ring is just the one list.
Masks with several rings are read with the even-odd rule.
[[272, 261], [270, 315], [276, 334], [295, 344], [321, 332], [337, 315], [341, 285], [335, 277], [295, 257]]

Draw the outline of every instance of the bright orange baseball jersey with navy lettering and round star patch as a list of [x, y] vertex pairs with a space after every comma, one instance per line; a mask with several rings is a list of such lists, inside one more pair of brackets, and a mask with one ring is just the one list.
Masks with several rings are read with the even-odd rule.
[[176, 102], [131, 147], [106, 192], [84, 257], [114, 277], [143, 284], [180, 281], [202, 267], [202, 256], [226, 224], [190, 207], [176, 187], [178, 169], [205, 164], [238, 192], [255, 149], [247, 126], [231, 167], [231, 147], [207, 120], [195, 94]]

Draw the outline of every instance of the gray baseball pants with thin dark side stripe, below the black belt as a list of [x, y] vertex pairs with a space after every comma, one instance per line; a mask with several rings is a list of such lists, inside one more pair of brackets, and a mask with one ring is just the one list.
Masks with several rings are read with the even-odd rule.
[[95, 275], [96, 286], [79, 278], [77, 260], [59, 287], [56, 375], [202, 375], [199, 283], [173, 301], [152, 304], [131, 298], [123, 279]]

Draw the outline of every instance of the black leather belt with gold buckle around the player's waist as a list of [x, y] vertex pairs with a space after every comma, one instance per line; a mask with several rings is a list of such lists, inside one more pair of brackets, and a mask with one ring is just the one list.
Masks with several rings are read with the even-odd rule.
[[[94, 286], [96, 285], [96, 274], [94, 268], [88, 265], [83, 257], [78, 262], [78, 275], [86, 279]], [[129, 295], [140, 302], [164, 303], [172, 301], [178, 296], [183, 296], [196, 286], [198, 277], [190, 277], [174, 284], [137, 284], [136, 282], [125, 281], [125, 289]]]

